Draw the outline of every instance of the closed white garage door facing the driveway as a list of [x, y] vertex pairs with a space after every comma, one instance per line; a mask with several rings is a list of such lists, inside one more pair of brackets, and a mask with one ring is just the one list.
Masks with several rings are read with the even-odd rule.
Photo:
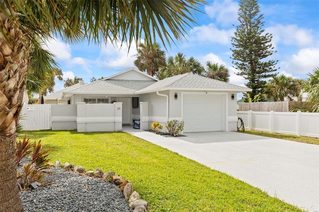
[[183, 95], [184, 132], [223, 131], [224, 95]]

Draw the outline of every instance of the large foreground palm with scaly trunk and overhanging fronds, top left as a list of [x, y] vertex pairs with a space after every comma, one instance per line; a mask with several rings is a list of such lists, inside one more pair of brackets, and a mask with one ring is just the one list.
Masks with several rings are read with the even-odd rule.
[[[165, 46], [181, 41], [203, 0], [1, 0], [0, 1], [0, 211], [23, 211], [14, 144], [30, 47], [59, 35], [68, 43], [138, 44], [141, 36]], [[39, 64], [40, 65], [40, 64]]]

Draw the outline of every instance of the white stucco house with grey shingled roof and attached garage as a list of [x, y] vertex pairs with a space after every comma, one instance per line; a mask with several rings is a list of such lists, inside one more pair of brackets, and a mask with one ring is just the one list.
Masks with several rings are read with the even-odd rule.
[[251, 89], [191, 73], [158, 80], [131, 68], [64, 89], [55, 99], [71, 105], [122, 103], [122, 124], [132, 125], [133, 119], [140, 119], [143, 129], [151, 128], [154, 121], [164, 125], [167, 120], [182, 119], [183, 132], [233, 131], [237, 130], [237, 92], [248, 91]]

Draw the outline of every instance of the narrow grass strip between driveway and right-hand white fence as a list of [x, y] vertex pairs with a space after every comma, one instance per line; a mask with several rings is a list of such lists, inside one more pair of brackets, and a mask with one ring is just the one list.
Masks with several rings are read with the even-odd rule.
[[244, 132], [243, 131], [239, 131], [239, 132], [319, 145], [319, 138], [313, 138], [313, 137], [278, 134], [274, 132], [261, 132], [261, 131], [254, 131], [254, 130], [245, 130]]

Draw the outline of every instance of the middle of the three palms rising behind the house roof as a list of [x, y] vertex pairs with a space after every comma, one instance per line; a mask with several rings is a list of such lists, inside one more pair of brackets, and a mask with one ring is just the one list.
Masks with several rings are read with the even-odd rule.
[[162, 80], [167, 77], [189, 72], [202, 75], [204, 71], [204, 67], [198, 60], [193, 57], [187, 59], [183, 53], [178, 52], [175, 57], [169, 56], [167, 58], [166, 66], [159, 68], [158, 78]]

